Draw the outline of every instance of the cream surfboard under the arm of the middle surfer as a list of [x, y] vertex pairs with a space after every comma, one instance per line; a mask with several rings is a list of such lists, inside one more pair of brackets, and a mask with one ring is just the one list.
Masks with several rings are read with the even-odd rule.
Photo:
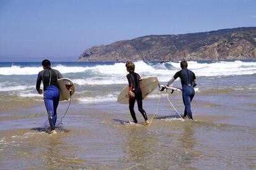
[[[153, 92], [155, 88], [158, 86], [159, 81], [157, 77], [148, 77], [142, 78], [140, 80], [140, 89], [142, 90], [142, 99], [145, 99], [148, 94]], [[126, 86], [120, 92], [119, 96], [117, 97], [117, 102], [121, 104], [128, 104], [129, 103], [129, 95], [128, 95], [129, 87]]]

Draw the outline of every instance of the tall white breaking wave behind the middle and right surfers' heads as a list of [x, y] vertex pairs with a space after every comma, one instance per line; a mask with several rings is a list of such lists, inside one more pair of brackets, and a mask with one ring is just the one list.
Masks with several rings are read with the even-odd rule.
[[[145, 62], [135, 62], [135, 71], [141, 76], [158, 76], [160, 81], [168, 81], [176, 71], [181, 70], [179, 62], [168, 62], [167, 65], [173, 66], [168, 69], [164, 65], [151, 65]], [[197, 76], [231, 76], [231, 75], [252, 75], [256, 73], [256, 62], [188, 62], [189, 69], [194, 71]], [[124, 63], [115, 63], [114, 65], [97, 65], [91, 67], [96, 73], [101, 75], [112, 75], [111, 78], [124, 77], [127, 74]]]

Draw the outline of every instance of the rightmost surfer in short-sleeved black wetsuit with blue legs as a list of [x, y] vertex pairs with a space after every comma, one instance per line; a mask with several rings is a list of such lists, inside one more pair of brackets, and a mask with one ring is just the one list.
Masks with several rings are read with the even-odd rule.
[[182, 70], [177, 71], [173, 78], [169, 80], [167, 86], [171, 85], [175, 79], [181, 78], [182, 99], [185, 105], [184, 115], [182, 118], [186, 118], [186, 116], [188, 116], [189, 119], [193, 119], [190, 102], [195, 95], [194, 87], [197, 86], [195, 73], [187, 69], [186, 61], [181, 62], [181, 68]]

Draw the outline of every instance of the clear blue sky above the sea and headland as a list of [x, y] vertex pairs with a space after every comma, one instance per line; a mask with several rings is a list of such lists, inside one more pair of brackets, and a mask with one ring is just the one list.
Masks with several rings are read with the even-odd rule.
[[0, 62], [74, 61], [150, 34], [256, 26], [255, 0], [0, 0]]

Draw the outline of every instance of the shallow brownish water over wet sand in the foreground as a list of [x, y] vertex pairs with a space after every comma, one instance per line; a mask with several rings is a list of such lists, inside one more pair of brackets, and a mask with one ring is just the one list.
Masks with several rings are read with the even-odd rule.
[[[256, 169], [256, 92], [197, 94], [195, 121], [166, 97], [150, 126], [136, 107], [139, 124], [129, 124], [127, 105], [73, 102], [57, 134], [48, 134], [44, 105], [1, 111], [1, 169]], [[181, 95], [169, 99], [182, 114]], [[149, 119], [157, 102], [143, 102]]]

